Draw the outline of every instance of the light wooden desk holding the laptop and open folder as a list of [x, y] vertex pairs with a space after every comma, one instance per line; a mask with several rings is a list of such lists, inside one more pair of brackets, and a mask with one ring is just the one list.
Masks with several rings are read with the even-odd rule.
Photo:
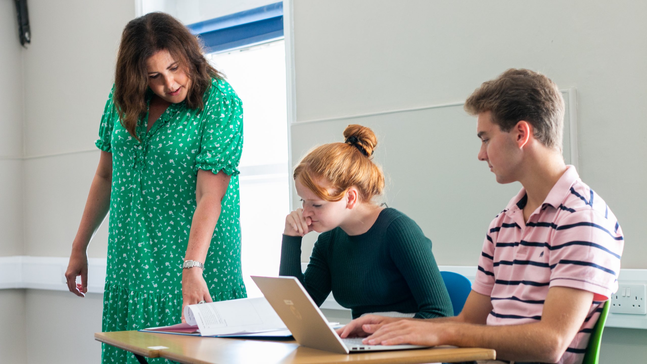
[[[166, 358], [184, 364], [421, 364], [495, 359], [492, 349], [426, 348], [336, 354], [302, 347], [296, 341], [224, 339], [138, 331], [97, 332], [94, 339], [148, 358]], [[167, 348], [149, 348], [149, 347]], [[144, 361], [145, 362], [145, 361]]]

